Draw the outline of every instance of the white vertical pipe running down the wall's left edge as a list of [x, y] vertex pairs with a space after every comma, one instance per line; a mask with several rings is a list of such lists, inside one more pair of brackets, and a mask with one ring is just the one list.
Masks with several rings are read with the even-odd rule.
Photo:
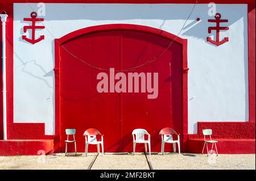
[[5, 25], [8, 15], [0, 14], [2, 21], [2, 71], [3, 71], [3, 140], [7, 140], [7, 121], [6, 121], [6, 36]]

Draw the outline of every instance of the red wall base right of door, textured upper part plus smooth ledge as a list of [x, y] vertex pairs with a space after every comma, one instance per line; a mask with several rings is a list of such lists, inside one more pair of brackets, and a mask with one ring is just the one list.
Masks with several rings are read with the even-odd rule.
[[[197, 134], [188, 136], [188, 152], [202, 153], [203, 129], [212, 129], [212, 139], [218, 141], [217, 149], [220, 154], [255, 154], [255, 123], [198, 122]], [[211, 146], [212, 144], [208, 144], [209, 150]], [[206, 148], [204, 153], [207, 153]]]

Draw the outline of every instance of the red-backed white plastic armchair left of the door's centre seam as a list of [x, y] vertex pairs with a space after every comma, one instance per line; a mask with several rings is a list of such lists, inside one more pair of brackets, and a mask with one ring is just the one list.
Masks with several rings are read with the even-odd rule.
[[[101, 136], [101, 141], [97, 140], [98, 134], [100, 134]], [[84, 132], [84, 136], [85, 136], [85, 156], [87, 157], [89, 144], [97, 145], [98, 153], [100, 153], [100, 145], [101, 145], [102, 156], [103, 156], [104, 155], [103, 134], [101, 134], [97, 129], [89, 128], [89, 129], [86, 129], [86, 131]]]

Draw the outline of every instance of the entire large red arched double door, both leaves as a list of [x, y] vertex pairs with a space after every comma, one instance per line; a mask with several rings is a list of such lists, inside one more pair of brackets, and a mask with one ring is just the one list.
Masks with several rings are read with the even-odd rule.
[[[83, 133], [88, 128], [104, 134], [106, 152], [132, 151], [131, 132], [136, 128], [151, 134], [151, 151], [160, 151], [160, 129], [171, 127], [181, 133], [182, 47], [170, 43], [151, 33], [111, 30], [81, 35], [60, 46], [61, 151], [66, 128], [76, 128], [78, 151], [84, 151]], [[139, 92], [99, 93], [97, 75], [105, 72], [110, 79], [110, 68], [115, 74], [125, 73], [127, 90], [128, 73], [151, 73], [151, 83], [153, 73], [158, 73], [157, 98], [148, 99], [152, 93], [141, 92], [141, 87]], [[96, 150], [89, 146], [89, 151]], [[144, 145], [138, 144], [137, 151], [144, 151]]]

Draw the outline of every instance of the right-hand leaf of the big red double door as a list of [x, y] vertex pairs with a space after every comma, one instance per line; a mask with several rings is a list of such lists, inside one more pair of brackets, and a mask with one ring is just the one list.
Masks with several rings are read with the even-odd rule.
[[[148, 99], [148, 93], [123, 93], [121, 96], [124, 151], [132, 151], [131, 132], [135, 128], [143, 128], [150, 133], [152, 151], [160, 151], [160, 129], [171, 127], [181, 132], [181, 110], [174, 108], [181, 108], [181, 90], [177, 89], [181, 86], [177, 85], [181, 82], [181, 46], [173, 43], [166, 50], [170, 43], [171, 40], [148, 33], [122, 33], [122, 69], [143, 65], [129, 72], [151, 73], [151, 77], [158, 73], [156, 99]], [[174, 69], [173, 61], [179, 61]], [[173, 78], [177, 79], [176, 82]], [[144, 151], [144, 145], [138, 144], [137, 150]], [[170, 150], [170, 145], [166, 145], [166, 150]]]

